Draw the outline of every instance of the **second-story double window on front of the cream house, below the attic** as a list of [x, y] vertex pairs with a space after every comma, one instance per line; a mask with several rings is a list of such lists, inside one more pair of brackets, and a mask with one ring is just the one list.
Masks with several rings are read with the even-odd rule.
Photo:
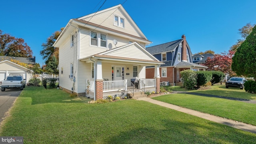
[[99, 47], [107, 47], [107, 35], [101, 34], [100, 32], [91, 32], [90, 34], [90, 45], [91, 46], [99, 46]]

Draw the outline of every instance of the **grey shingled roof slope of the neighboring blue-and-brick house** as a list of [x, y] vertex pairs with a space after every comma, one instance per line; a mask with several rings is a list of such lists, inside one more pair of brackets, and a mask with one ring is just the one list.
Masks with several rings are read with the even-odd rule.
[[169, 52], [169, 51], [173, 51], [181, 42], [183, 41], [183, 39], [180, 40], [175, 40], [172, 42], [167, 42], [165, 44], [159, 44], [156, 46], [151, 46], [146, 48], [146, 50], [148, 52], [150, 52], [150, 54], [158, 54], [161, 52]]

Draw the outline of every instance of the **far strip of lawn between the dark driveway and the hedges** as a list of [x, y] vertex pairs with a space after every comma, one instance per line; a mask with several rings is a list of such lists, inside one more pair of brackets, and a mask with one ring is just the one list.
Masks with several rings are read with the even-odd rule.
[[212, 94], [216, 96], [256, 100], [256, 94], [245, 92], [245, 90], [240, 90], [240, 88], [226, 88], [225, 84], [214, 84], [213, 86], [210, 86], [210, 89], [206, 90], [185, 90], [184, 88], [180, 88], [180, 86], [173, 86], [169, 89], [172, 91], [196, 92], [200, 94]]

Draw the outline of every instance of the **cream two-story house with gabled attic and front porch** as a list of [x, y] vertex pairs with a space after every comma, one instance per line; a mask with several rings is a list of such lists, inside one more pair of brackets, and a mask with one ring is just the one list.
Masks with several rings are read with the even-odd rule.
[[[164, 63], [145, 50], [150, 43], [122, 5], [71, 19], [54, 43], [59, 86], [96, 100], [124, 97], [133, 92], [137, 78], [137, 89], [159, 92]], [[146, 66], [154, 67], [154, 78], [146, 79]]]

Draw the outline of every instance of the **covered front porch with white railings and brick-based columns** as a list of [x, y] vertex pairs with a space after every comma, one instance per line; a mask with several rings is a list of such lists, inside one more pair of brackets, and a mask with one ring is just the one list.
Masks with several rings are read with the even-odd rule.
[[[124, 98], [127, 93], [160, 91], [162, 62], [106, 55], [94, 55], [81, 61], [92, 66], [92, 77], [86, 78], [86, 96], [94, 100], [109, 95]], [[146, 79], [146, 66], [154, 66], [154, 78]]]

